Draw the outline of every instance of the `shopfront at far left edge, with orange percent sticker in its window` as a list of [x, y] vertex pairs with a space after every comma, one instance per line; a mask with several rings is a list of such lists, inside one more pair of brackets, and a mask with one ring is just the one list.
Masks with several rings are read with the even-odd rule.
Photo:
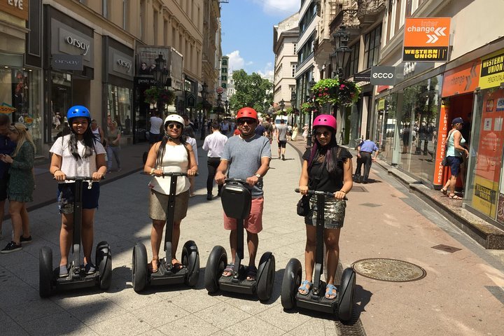
[[13, 123], [24, 123], [41, 154], [41, 71], [25, 64], [25, 36], [29, 10], [0, 2], [0, 113]]

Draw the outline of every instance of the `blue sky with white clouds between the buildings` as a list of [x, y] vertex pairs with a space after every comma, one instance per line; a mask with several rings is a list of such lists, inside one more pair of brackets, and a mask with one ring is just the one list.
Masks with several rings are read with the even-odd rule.
[[222, 51], [230, 70], [273, 77], [273, 26], [296, 13], [301, 0], [229, 0], [221, 3]]

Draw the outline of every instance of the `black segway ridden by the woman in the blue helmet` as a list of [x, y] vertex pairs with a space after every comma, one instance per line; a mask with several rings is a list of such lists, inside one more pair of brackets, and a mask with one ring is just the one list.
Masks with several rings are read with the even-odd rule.
[[110, 245], [101, 241], [97, 245], [94, 274], [85, 274], [84, 266], [80, 264], [80, 230], [82, 225], [82, 194], [85, 181], [92, 186], [90, 176], [66, 176], [66, 180], [75, 181], [75, 200], [73, 202], [73, 257], [68, 276], [59, 277], [59, 266], [52, 267], [52, 250], [43, 246], [38, 253], [38, 293], [41, 297], [50, 296], [59, 288], [85, 288], [98, 286], [103, 290], [109, 289], [112, 281], [112, 253]]

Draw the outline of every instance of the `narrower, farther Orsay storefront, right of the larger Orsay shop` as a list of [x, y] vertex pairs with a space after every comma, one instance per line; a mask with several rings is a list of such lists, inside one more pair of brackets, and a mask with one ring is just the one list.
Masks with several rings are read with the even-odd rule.
[[[104, 36], [104, 106], [106, 116], [102, 125], [106, 125], [109, 116], [115, 121], [122, 134], [123, 144], [133, 143], [132, 132], [132, 92], [134, 50], [118, 41]], [[105, 127], [104, 127], [105, 128]]]

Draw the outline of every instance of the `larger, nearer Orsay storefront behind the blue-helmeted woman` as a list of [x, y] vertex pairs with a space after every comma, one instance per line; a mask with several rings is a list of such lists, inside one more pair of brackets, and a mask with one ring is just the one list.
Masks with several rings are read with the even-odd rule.
[[73, 105], [90, 108], [91, 80], [94, 78], [93, 29], [59, 12], [44, 6], [44, 110], [45, 144], [68, 133], [66, 111]]

